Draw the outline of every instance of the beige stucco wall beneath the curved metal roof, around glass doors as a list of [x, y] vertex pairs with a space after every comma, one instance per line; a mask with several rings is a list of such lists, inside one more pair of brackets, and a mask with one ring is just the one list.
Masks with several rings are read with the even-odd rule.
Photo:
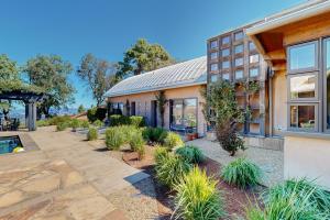
[[[202, 114], [202, 102], [204, 98], [200, 95], [200, 89], [202, 86], [190, 86], [190, 87], [183, 87], [183, 88], [175, 88], [175, 89], [167, 89], [165, 90], [166, 99], [180, 99], [180, 98], [197, 98], [197, 123], [198, 123], [198, 134], [205, 135], [207, 123]], [[151, 119], [151, 101], [155, 100], [156, 91], [152, 92], [143, 92], [143, 94], [135, 94], [129, 96], [121, 96], [109, 98], [111, 102], [123, 102], [127, 103], [127, 100], [135, 101], [135, 113], [136, 116], [143, 116], [147, 118], [150, 121]], [[160, 114], [158, 114], [160, 116]], [[158, 125], [160, 125], [160, 121]], [[165, 114], [164, 114], [165, 128], [169, 129], [169, 102], [166, 103]]]

